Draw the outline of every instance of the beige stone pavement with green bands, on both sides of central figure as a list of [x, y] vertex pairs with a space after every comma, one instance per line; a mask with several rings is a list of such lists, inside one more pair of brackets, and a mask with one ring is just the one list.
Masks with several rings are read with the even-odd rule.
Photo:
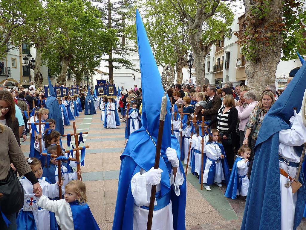
[[[120, 155], [125, 147], [125, 124], [116, 129], [105, 129], [100, 121], [101, 111], [97, 110], [97, 113], [80, 113], [75, 123], [78, 132], [88, 132], [88, 135], [83, 135], [89, 148], [86, 150], [85, 167], [81, 168], [88, 205], [100, 229], [109, 230], [112, 229], [116, 204]], [[72, 122], [65, 126], [67, 133], [73, 133]], [[66, 138], [62, 137], [62, 143], [67, 149]], [[28, 139], [22, 143], [21, 149], [28, 155], [29, 148]], [[243, 198], [228, 200], [224, 197], [224, 187], [211, 186], [211, 192], [200, 190], [198, 179], [190, 172], [187, 173], [186, 183], [187, 230], [240, 229], [245, 204]], [[306, 230], [304, 219], [298, 229]]]

